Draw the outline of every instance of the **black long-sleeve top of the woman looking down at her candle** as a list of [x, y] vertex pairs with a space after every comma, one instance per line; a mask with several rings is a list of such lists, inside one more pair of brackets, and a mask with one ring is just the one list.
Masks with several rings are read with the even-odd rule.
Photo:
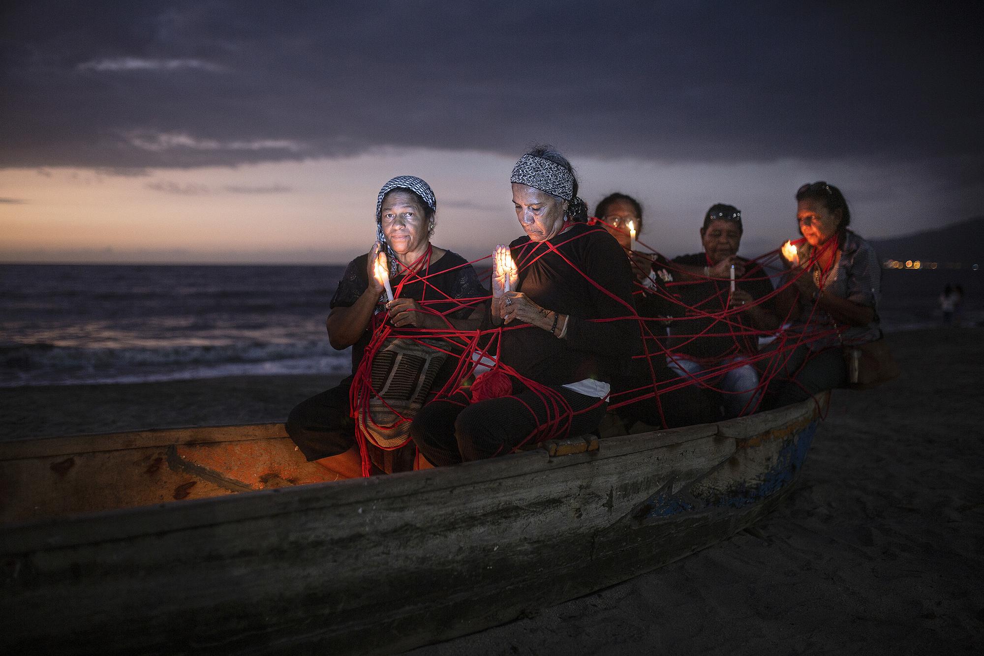
[[[503, 330], [502, 362], [544, 385], [611, 382], [625, 371], [631, 356], [642, 351], [642, 340], [639, 322], [632, 318], [632, 270], [615, 238], [601, 227], [575, 223], [546, 242], [523, 236], [509, 246], [520, 274], [516, 291], [571, 319], [563, 339], [543, 328], [509, 324]], [[591, 321], [605, 318], [622, 319]]]

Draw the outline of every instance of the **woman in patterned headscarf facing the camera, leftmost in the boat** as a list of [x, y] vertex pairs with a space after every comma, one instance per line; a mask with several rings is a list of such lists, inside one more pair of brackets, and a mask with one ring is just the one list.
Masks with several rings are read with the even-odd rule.
[[[328, 338], [338, 350], [351, 347], [352, 372], [358, 370], [376, 325], [417, 333], [426, 329], [477, 328], [468, 323], [471, 304], [487, 298], [475, 271], [452, 251], [433, 246], [437, 200], [420, 178], [403, 175], [386, 183], [376, 199], [376, 236], [369, 253], [348, 263], [338, 282], [328, 316]], [[375, 275], [386, 253], [393, 301]], [[459, 300], [456, 300], [459, 299]], [[386, 313], [387, 322], [381, 313]], [[379, 315], [379, 317], [377, 317]], [[411, 341], [411, 340], [404, 340]], [[308, 460], [316, 460], [339, 475], [352, 478], [363, 472], [355, 441], [349, 395], [353, 377], [295, 407], [287, 419], [287, 434]], [[377, 467], [382, 455], [369, 449]], [[403, 449], [405, 450], [405, 449]], [[382, 467], [380, 467], [382, 468]], [[388, 469], [390, 467], [387, 467]], [[405, 468], [396, 466], [396, 468]]]

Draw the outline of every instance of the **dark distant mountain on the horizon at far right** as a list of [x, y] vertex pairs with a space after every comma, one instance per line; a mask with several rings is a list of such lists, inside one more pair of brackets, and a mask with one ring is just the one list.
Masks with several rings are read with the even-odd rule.
[[892, 259], [984, 265], [984, 216], [903, 237], [872, 239], [871, 243], [883, 262]]

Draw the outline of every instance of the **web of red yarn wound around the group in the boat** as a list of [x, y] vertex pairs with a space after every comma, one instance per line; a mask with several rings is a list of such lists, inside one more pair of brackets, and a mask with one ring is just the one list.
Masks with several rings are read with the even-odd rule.
[[[594, 224], [604, 225], [604, 221], [601, 219], [594, 218]], [[566, 224], [565, 224], [566, 227]], [[682, 280], [676, 280], [667, 282], [663, 287], [648, 288], [644, 287], [641, 283], [636, 283], [635, 295], [657, 295], [663, 298], [669, 303], [674, 303], [682, 306], [683, 312], [680, 313], [681, 316], [673, 317], [640, 317], [633, 304], [626, 302], [624, 299], [616, 296], [612, 291], [605, 289], [598, 282], [592, 280], [584, 271], [577, 266], [576, 263], [572, 262], [563, 253], [558, 251], [558, 248], [563, 244], [566, 244], [574, 239], [583, 237], [587, 232], [581, 233], [579, 235], [568, 235], [565, 239], [562, 239], [559, 243], [553, 244], [550, 242], [546, 243], [530, 243], [526, 244], [521, 248], [521, 253], [517, 258], [517, 265], [522, 270], [532, 265], [536, 260], [546, 256], [547, 254], [555, 254], [561, 260], [563, 260], [568, 266], [573, 268], [577, 273], [584, 276], [591, 285], [594, 286], [601, 293], [608, 296], [613, 301], [618, 302], [620, 305], [624, 306], [625, 314], [622, 317], [605, 317], [599, 319], [589, 319], [585, 320], [591, 323], [604, 323], [604, 322], [614, 322], [614, 321], [626, 321], [632, 320], [639, 322], [639, 327], [643, 337], [644, 353], [641, 355], [634, 356], [635, 358], [642, 359], [646, 363], [649, 370], [649, 374], [652, 377], [652, 382], [644, 385], [640, 385], [638, 388], [626, 389], [619, 392], [613, 392], [608, 397], [608, 409], [612, 410], [621, 406], [629, 405], [646, 398], [654, 398], [656, 406], [659, 410], [659, 414], [662, 415], [662, 404], [660, 401], [660, 396], [663, 393], [673, 391], [674, 389], [684, 388], [686, 386], [694, 385], [695, 383], [702, 388], [711, 389], [720, 393], [739, 393], [731, 390], [719, 389], [716, 387], [717, 379], [725, 372], [734, 369], [736, 367], [743, 366], [744, 363], [753, 362], [757, 366], [765, 369], [762, 372], [759, 382], [759, 390], [765, 390], [769, 383], [775, 379], [789, 380], [794, 379], [793, 376], [787, 376], [783, 367], [786, 361], [792, 356], [793, 351], [808, 341], [815, 339], [829, 338], [839, 334], [841, 327], [836, 326], [832, 323], [830, 318], [825, 318], [824, 314], [819, 306], [814, 303], [812, 307], [806, 312], [805, 316], [800, 316], [799, 322], [805, 324], [812, 329], [797, 329], [797, 330], [785, 330], [780, 329], [778, 331], [773, 330], [759, 330], [757, 328], [750, 327], [746, 322], [741, 320], [740, 315], [743, 310], [740, 308], [728, 307], [728, 299], [724, 287], [718, 290], [716, 296], [720, 300], [720, 310], [711, 310], [706, 307], [701, 309], [695, 309], [686, 307], [680, 298], [673, 293], [673, 288], [677, 286], [700, 284], [703, 279], [690, 279], [684, 277]], [[795, 240], [795, 244], [800, 244], [804, 240]], [[643, 242], [638, 242], [641, 246], [646, 247]], [[647, 247], [646, 247], [647, 248]], [[803, 267], [793, 269], [793, 275], [787, 276], [776, 289], [773, 289], [768, 295], [755, 299], [752, 305], [758, 305], [775, 298], [779, 294], [790, 287], [795, 286], [794, 277], [799, 275], [810, 275], [812, 269], [820, 259], [821, 252], [825, 249], [837, 248], [835, 240], [831, 240], [828, 244], [821, 247], [820, 249], [813, 249], [811, 253], [811, 258], [809, 262], [805, 263]], [[649, 249], [652, 250], [652, 249]], [[654, 251], [653, 251], [654, 252]], [[514, 256], [516, 257], [516, 256]], [[371, 396], [378, 396], [379, 391], [372, 387], [372, 360], [377, 351], [383, 345], [387, 338], [399, 336], [405, 339], [429, 339], [431, 342], [444, 341], [445, 345], [434, 344], [432, 347], [447, 353], [449, 356], [458, 358], [458, 366], [455, 369], [454, 374], [447, 380], [444, 386], [436, 390], [435, 398], [448, 398], [452, 393], [459, 389], [464, 380], [470, 376], [477, 364], [483, 358], [491, 358], [493, 360], [498, 360], [495, 367], [487, 371], [475, 379], [475, 382], [471, 385], [470, 395], [472, 402], [478, 402], [482, 400], [501, 398], [503, 396], [509, 396], [513, 393], [513, 379], [520, 381], [523, 384], [523, 388], [531, 392], [536, 396], [539, 403], [537, 407], [537, 412], [540, 411], [540, 407], [546, 409], [546, 418], [538, 420], [538, 426], [534, 428], [529, 435], [525, 437], [520, 447], [530, 442], [542, 442], [544, 440], [551, 440], [560, 437], [566, 437], [570, 431], [571, 423], [573, 417], [577, 414], [583, 412], [588, 412], [594, 410], [596, 407], [600, 406], [605, 401], [598, 399], [596, 405], [589, 408], [585, 408], [581, 411], [574, 411], [570, 404], [565, 400], [563, 394], [556, 391], [554, 388], [550, 388], [535, 381], [531, 381], [523, 377], [519, 372], [517, 372], [512, 367], [502, 363], [500, 359], [501, 353], [499, 349], [501, 347], [502, 332], [504, 330], [512, 330], [517, 328], [524, 328], [523, 326], [512, 326], [492, 328], [491, 330], [461, 330], [455, 328], [446, 315], [453, 312], [457, 312], [461, 308], [468, 307], [481, 307], [481, 304], [487, 302], [489, 297], [476, 297], [476, 298], [453, 298], [447, 292], [442, 289], [435, 287], [429, 279], [438, 273], [431, 273], [429, 270], [431, 258], [431, 250], [428, 249], [424, 256], [410, 265], [409, 267], [403, 266], [400, 263], [402, 272], [405, 273], [400, 284], [394, 290], [397, 296], [400, 296], [400, 292], [405, 284], [409, 280], [419, 280], [425, 285], [426, 293], [421, 295], [418, 303], [421, 306], [420, 312], [431, 315], [433, 317], [439, 318], [441, 321], [438, 323], [440, 328], [402, 328], [400, 329], [399, 335], [393, 334], [393, 327], [391, 324], [385, 321], [385, 313], [380, 313], [373, 319], [372, 323], [372, 339], [369, 346], [366, 347], [365, 357], [362, 360], [358, 371], [355, 372], [355, 378], [352, 383], [350, 391], [350, 405], [351, 405], [351, 416], [353, 418], [359, 416], [359, 410], [363, 411], [363, 421], [371, 421], [371, 417], [366, 412], [368, 408], [369, 398]], [[769, 279], [769, 273], [766, 271], [765, 267], [770, 263], [778, 262], [779, 253], [778, 249], [770, 251], [769, 253], [756, 258], [751, 261], [756, 265], [762, 267], [759, 276], [754, 279]], [[482, 260], [490, 260], [491, 256], [486, 256]], [[477, 262], [477, 261], [476, 261]], [[463, 264], [458, 268], [468, 267], [471, 264]], [[833, 261], [823, 268], [821, 271], [821, 285], [823, 284], [824, 278], [830, 273]], [[672, 263], [667, 263], [666, 268], [676, 271], [678, 269], [673, 267]], [[648, 271], [646, 271], [647, 273]], [[486, 275], [491, 275], [491, 272]], [[745, 279], [753, 279], [746, 276]], [[710, 300], [710, 299], [708, 299]], [[447, 303], [453, 302], [456, 307], [448, 310], [444, 313], [435, 312], [430, 308], [431, 305], [437, 303]], [[790, 314], [780, 318], [782, 325], [789, 325], [792, 322], [792, 312]], [[706, 371], [697, 375], [688, 375], [684, 377], [679, 377], [669, 381], [656, 382], [655, 369], [653, 367], [653, 362], [660, 364], [665, 362], [667, 357], [675, 356], [675, 349], [667, 349], [665, 346], [665, 325], [672, 322], [689, 321], [693, 320], [695, 317], [706, 318], [709, 321], [716, 321], [727, 324], [730, 329], [726, 333], [737, 338], [747, 338], [758, 337], [758, 336], [770, 336], [775, 340], [775, 347], [769, 352], [754, 352], [748, 353], [747, 358], [744, 361], [727, 362], [724, 364], [715, 364], [710, 366]], [[773, 334], [774, 333], [774, 334]], [[699, 339], [704, 336], [704, 330], [698, 334], [680, 334], [677, 330], [675, 333], [677, 337], [689, 337], [690, 339]], [[479, 343], [486, 337], [491, 337], [490, 340], [486, 340], [483, 346], [479, 346]], [[804, 363], [805, 365], [805, 363]], [[801, 365], [801, 368], [802, 366]], [[795, 383], [795, 381], [793, 381]], [[523, 407], [533, 416], [539, 416], [537, 412], [534, 412], [533, 407], [524, 401], [522, 398], [514, 396], [518, 402], [523, 404]], [[757, 397], [758, 401], [761, 401], [761, 394]], [[757, 403], [758, 403], [757, 401]], [[748, 414], [755, 412], [758, 409], [758, 405], [755, 407], [747, 407], [743, 411], [743, 414]], [[369, 419], [365, 419], [369, 417]], [[408, 422], [411, 418], [402, 417], [400, 422]], [[665, 419], [663, 418], [663, 423]], [[364, 426], [358, 425], [356, 422], [355, 426], [355, 438], [359, 446], [359, 452], [362, 458], [362, 468], [363, 476], [369, 475], [369, 470], [371, 467], [371, 462], [368, 456], [367, 447], [369, 442], [372, 442], [371, 435], [366, 430]], [[373, 442], [373, 444], [375, 444]], [[378, 447], [378, 445], [376, 445]], [[516, 447], [519, 448], [519, 447]], [[515, 450], [512, 449], [512, 450]]]

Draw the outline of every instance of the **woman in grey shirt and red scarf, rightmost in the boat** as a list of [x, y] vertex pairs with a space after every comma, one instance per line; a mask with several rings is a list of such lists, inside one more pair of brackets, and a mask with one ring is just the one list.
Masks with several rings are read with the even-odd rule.
[[787, 260], [799, 292], [799, 320], [769, 348], [770, 406], [805, 400], [848, 382], [843, 347], [881, 338], [877, 312], [882, 267], [875, 249], [847, 229], [851, 212], [826, 182], [796, 191], [796, 220], [805, 244]]

